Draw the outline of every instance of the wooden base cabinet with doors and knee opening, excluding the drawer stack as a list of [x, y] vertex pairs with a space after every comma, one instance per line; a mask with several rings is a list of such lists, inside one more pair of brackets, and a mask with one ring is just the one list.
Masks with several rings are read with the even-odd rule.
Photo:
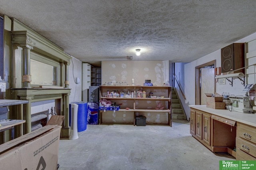
[[236, 143], [235, 123], [211, 113], [190, 109], [190, 134], [212, 152], [228, 152], [236, 157], [233, 150]]

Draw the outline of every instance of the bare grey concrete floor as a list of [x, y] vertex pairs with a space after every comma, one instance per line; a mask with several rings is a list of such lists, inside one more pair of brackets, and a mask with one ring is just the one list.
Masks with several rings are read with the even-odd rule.
[[159, 125], [87, 125], [76, 140], [61, 139], [58, 170], [219, 170], [219, 160], [190, 135], [190, 123], [174, 119]]

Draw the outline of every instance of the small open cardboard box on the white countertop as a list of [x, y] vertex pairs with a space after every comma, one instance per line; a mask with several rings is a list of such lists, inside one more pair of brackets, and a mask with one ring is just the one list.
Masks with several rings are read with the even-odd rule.
[[226, 109], [225, 102], [222, 102], [222, 97], [212, 97], [208, 94], [206, 94], [206, 107], [212, 108], [212, 109]]

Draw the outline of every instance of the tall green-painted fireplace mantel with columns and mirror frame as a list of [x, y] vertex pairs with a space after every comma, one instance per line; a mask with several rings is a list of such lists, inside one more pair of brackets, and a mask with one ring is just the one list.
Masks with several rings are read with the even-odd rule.
[[[31, 103], [55, 100], [55, 104], [59, 107], [59, 114], [65, 116], [62, 124], [61, 136], [69, 137], [70, 89], [68, 81], [68, 66], [70, 65], [72, 57], [66, 54], [62, 48], [44, 38], [42, 35], [36, 33], [34, 30], [30, 29], [15, 18], [10, 18], [10, 20], [11, 30], [9, 33], [6, 33], [6, 35], [11, 35], [12, 75], [8, 80], [9, 88], [6, 98], [28, 101], [28, 104], [24, 104], [24, 107], [20, 108], [23, 109], [23, 115], [13, 115], [26, 120], [26, 123], [24, 124], [24, 133], [29, 133], [31, 132]], [[5, 43], [8, 44], [8, 42]], [[50, 63], [51, 61], [54, 61], [59, 64], [59, 84], [57, 86], [39, 88], [40, 84], [38, 86], [30, 84], [33, 79], [33, 75], [30, 73], [30, 53], [32, 52], [47, 59]]]

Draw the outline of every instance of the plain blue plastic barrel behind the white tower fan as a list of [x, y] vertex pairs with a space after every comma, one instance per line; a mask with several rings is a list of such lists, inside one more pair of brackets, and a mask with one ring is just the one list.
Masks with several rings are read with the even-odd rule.
[[[77, 131], [82, 132], [87, 128], [87, 103], [86, 102], [72, 102], [78, 105], [77, 112]], [[71, 125], [71, 104], [69, 104], [69, 126]]]

